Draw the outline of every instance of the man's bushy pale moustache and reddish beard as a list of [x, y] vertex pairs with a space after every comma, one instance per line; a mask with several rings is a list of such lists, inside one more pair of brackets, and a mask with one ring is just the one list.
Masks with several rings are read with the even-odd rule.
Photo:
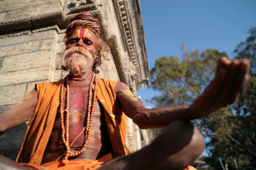
[[70, 73], [76, 77], [81, 77], [93, 67], [93, 57], [83, 47], [72, 47], [65, 51], [62, 56], [61, 68], [70, 69]]

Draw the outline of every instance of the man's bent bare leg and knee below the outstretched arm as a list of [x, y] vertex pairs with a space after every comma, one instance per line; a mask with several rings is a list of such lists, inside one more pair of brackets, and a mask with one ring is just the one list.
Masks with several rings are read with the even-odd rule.
[[183, 170], [204, 150], [204, 139], [187, 121], [172, 122], [151, 144], [98, 170]]

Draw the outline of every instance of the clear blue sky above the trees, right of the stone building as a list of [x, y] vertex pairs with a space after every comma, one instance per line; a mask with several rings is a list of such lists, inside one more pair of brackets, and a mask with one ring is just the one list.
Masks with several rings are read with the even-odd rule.
[[[180, 57], [180, 44], [203, 51], [215, 48], [233, 58], [233, 50], [256, 26], [256, 0], [140, 0], [149, 68], [160, 56]], [[137, 91], [145, 106], [156, 94]]]

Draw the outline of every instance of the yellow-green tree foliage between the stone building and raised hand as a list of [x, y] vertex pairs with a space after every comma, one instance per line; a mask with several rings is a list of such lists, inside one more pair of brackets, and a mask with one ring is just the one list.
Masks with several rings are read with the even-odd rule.
[[218, 59], [226, 55], [215, 49], [185, 51], [178, 57], [159, 57], [151, 69], [151, 88], [160, 91], [151, 102], [157, 107], [187, 105], [198, 96], [210, 82]]

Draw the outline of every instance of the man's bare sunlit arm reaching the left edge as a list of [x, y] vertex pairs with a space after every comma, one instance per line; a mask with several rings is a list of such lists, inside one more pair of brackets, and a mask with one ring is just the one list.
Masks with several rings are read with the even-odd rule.
[[33, 89], [24, 99], [0, 112], [0, 134], [26, 122], [34, 113], [38, 102], [38, 92]]

